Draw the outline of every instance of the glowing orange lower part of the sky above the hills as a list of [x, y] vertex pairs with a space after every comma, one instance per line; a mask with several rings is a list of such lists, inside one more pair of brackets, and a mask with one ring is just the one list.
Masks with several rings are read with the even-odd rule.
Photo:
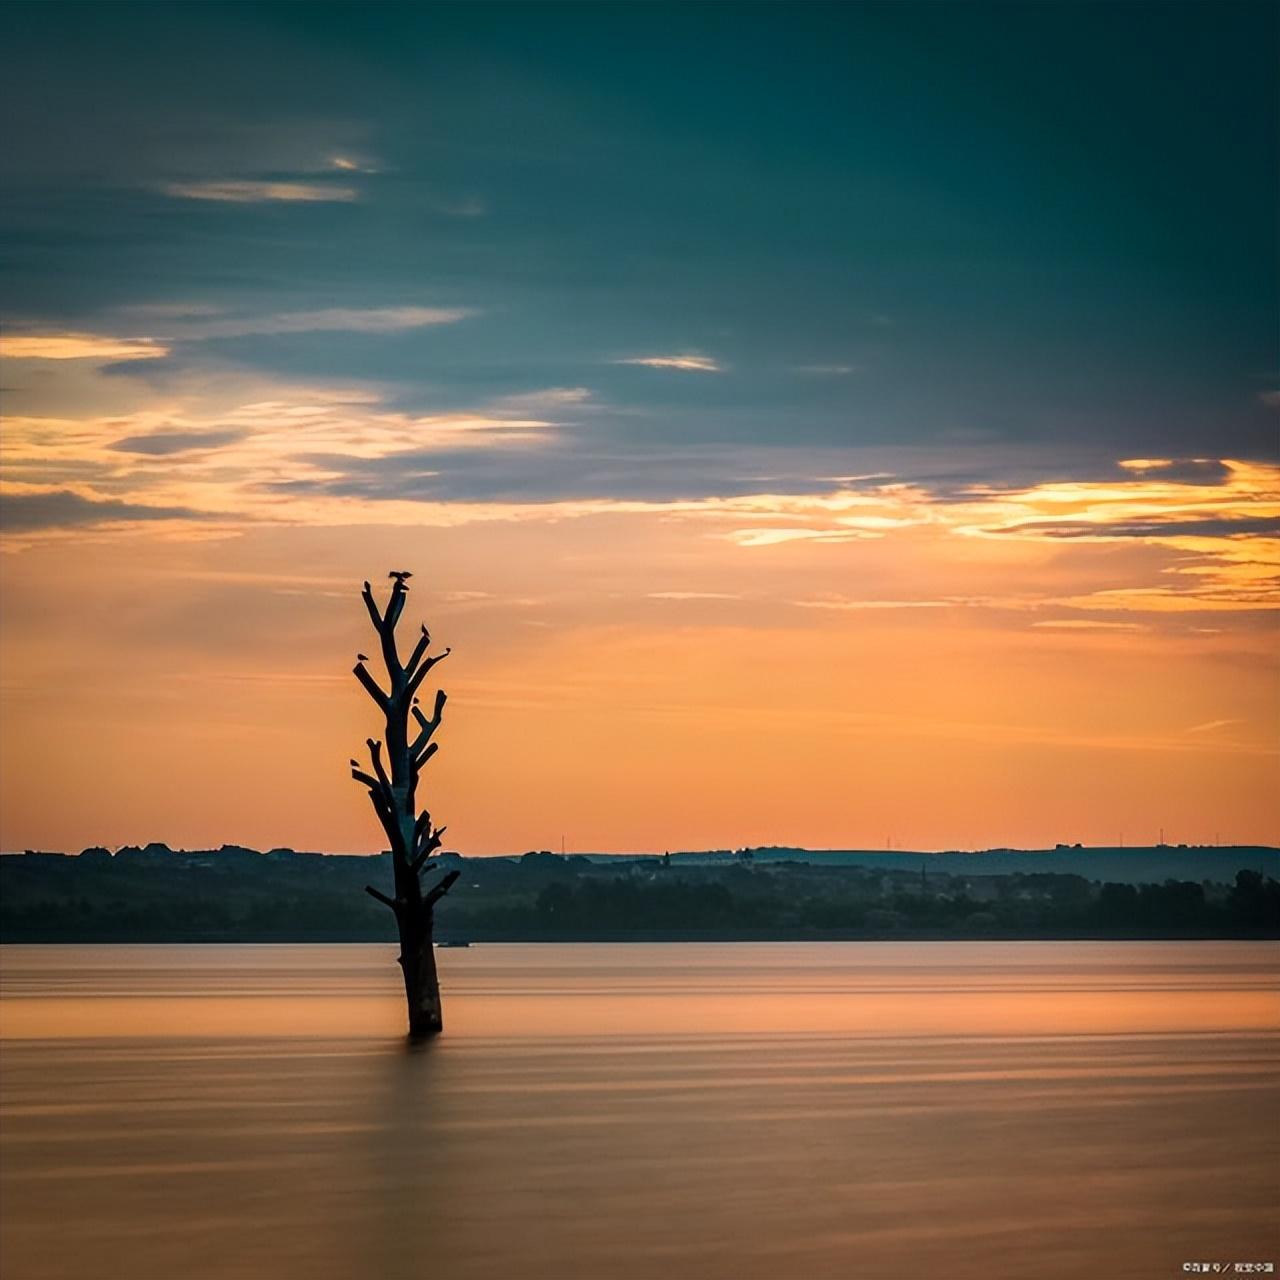
[[[95, 383], [118, 346], [18, 355], [50, 392], [6, 420], [6, 495], [101, 502], [86, 465], [120, 507], [5, 538], [4, 849], [375, 849], [349, 667], [360, 581], [392, 567], [415, 572], [406, 623], [454, 650], [429, 803], [463, 852], [1280, 841], [1280, 557], [1221, 527], [1280, 511], [1275, 468], [943, 494], [882, 451], [804, 494], [294, 502], [260, 480], [307, 474], [320, 438], [536, 451], [554, 413], [410, 421], [288, 387], [157, 404]], [[262, 425], [110, 452], [191, 404]]]

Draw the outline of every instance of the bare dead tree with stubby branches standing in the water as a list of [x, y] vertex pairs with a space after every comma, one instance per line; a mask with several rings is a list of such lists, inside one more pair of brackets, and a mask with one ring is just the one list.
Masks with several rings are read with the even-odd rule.
[[413, 652], [401, 662], [396, 648], [396, 625], [404, 612], [407, 579], [411, 575], [392, 572], [388, 576], [393, 585], [385, 612], [379, 612], [367, 582], [361, 594], [381, 644], [390, 687], [383, 689], [369, 673], [364, 654], [360, 654], [355, 667], [356, 678], [383, 713], [387, 730], [381, 742], [372, 737], [367, 740], [370, 769], [362, 768], [358, 760], [352, 760], [351, 776], [369, 790], [374, 813], [390, 844], [396, 896], [388, 897], [372, 884], [367, 884], [365, 892], [390, 908], [396, 915], [401, 942], [399, 966], [404, 972], [404, 996], [408, 1000], [408, 1033], [417, 1038], [435, 1036], [443, 1027], [440, 984], [431, 942], [433, 914], [435, 904], [458, 878], [458, 872], [453, 870], [434, 884], [426, 881], [429, 874], [439, 869], [439, 863], [433, 856], [440, 847], [444, 827], [433, 827], [431, 815], [425, 809], [417, 812], [419, 780], [439, 745], [433, 739], [440, 727], [445, 703], [444, 690], [438, 690], [434, 710], [426, 717], [419, 707], [419, 690], [428, 672], [447, 658], [449, 650], [444, 649], [429, 658], [426, 650], [431, 636], [424, 626]]

